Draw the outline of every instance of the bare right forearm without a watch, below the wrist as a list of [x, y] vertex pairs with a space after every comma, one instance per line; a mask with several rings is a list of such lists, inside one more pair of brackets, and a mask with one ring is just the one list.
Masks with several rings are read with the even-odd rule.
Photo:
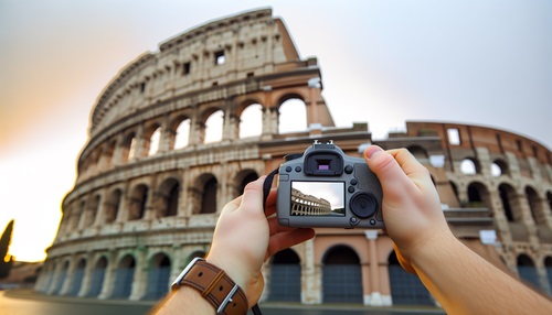
[[447, 314], [550, 314], [552, 302], [503, 273], [452, 233], [412, 259]]

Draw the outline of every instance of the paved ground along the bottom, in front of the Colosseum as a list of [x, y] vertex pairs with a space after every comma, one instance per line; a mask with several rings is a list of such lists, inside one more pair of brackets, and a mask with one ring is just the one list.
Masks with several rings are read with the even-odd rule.
[[[0, 291], [2, 315], [136, 315], [148, 314], [155, 302], [100, 301], [49, 296], [32, 290]], [[367, 307], [363, 305], [323, 304], [301, 305], [288, 303], [265, 303], [261, 305], [263, 315], [404, 315], [404, 314], [445, 314], [435, 307]]]

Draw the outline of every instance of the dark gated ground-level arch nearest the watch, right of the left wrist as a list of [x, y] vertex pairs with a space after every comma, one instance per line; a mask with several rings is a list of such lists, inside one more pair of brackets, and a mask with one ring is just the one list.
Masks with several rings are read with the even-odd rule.
[[301, 301], [301, 264], [293, 249], [277, 252], [270, 264], [269, 301]]

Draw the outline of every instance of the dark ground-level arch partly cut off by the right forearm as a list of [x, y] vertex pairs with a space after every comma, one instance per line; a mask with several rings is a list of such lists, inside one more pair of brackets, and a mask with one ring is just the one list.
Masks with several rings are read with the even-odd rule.
[[395, 251], [388, 258], [389, 282], [393, 305], [433, 305], [429, 291], [417, 275], [406, 272], [396, 258]]

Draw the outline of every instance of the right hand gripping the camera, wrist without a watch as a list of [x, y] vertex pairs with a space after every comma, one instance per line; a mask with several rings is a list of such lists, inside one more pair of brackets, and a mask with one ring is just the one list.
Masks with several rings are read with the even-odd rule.
[[454, 237], [429, 172], [406, 149], [383, 151], [371, 145], [364, 159], [383, 188], [383, 220], [399, 262], [415, 273], [412, 259], [421, 249]]

